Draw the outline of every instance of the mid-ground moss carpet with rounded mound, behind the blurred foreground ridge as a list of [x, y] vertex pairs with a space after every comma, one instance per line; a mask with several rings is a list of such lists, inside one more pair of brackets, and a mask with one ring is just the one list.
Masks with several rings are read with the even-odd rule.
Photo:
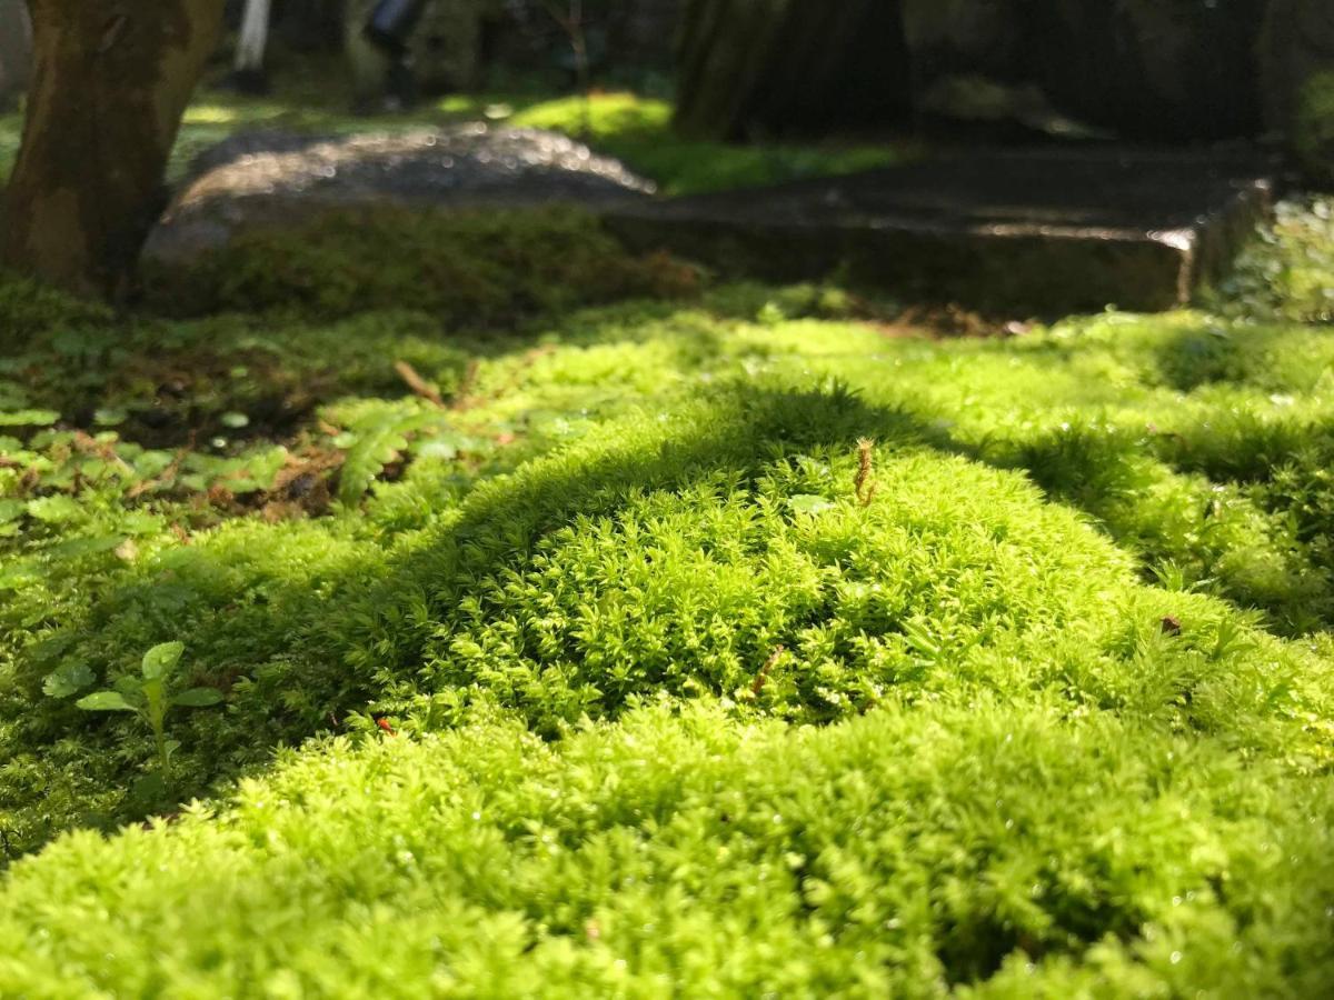
[[[143, 809], [127, 796], [133, 741], [105, 753], [132, 727], [89, 731], [40, 692], [79, 664], [115, 675], [171, 635], [191, 636], [201, 680], [235, 685], [225, 721], [183, 723], [183, 793], [367, 704], [436, 728], [498, 699], [552, 735], [658, 691], [827, 721], [895, 692], [1071, 684], [1077, 704], [1315, 752], [1279, 712], [1289, 699], [1319, 712], [1301, 651], [1187, 591], [1263, 608], [1285, 632], [1330, 620], [1319, 469], [1334, 445], [1313, 363], [1323, 340], [1299, 327], [1237, 327], [1233, 339], [1182, 315], [932, 344], [786, 320], [775, 305], [810, 301], [810, 289], [723, 289], [691, 308], [576, 313], [508, 343], [447, 337], [422, 313], [135, 332], [92, 364], [97, 411], [143, 377], [131, 377], [136, 345], [200, 379], [201, 344], [256, 360], [185, 395], [219, 420], [204, 424], [217, 441], [145, 448], [120, 437], [139, 433], [132, 409], [119, 433], [89, 427], [99, 439], [20, 431], [19, 471], [0, 475], [12, 497], [0, 581], [11, 843], [81, 813]], [[736, 319], [747, 303], [751, 323]], [[35, 355], [32, 367], [85, 357]], [[394, 399], [410, 391], [402, 359], [448, 411]], [[253, 428], [221, 423], [255, 413], [265, 371], [312, 393], [280, 440], [257, 416]], [[862, 395], [812, 391], [812, 372]], [[751, 385], [690, 403], [735, 379]], [[24, 405], [56, 404], [59, 385]], [[863, 436], [880, 441], [866, 508]], [[346, 493], [363, 440], [383, 448], [359, 473], [374, 481], [366, 513], [352, 493], [339, 515], [329, 497]], [[52, 505], [75, 489], [80, 504]], [[288, 521], [309, 513], [335, 516]], [[1185, 609], [1189, 645], [1138, 652]], [[1262, 663], [1282, 668], [1258, 677]], [[1138, 687], [1153, 676], [1166, 687]], [[77, 741], [63, 739], [72, 725]], [[83, 784], [39, 809], [33, 789], [57, 772]]]

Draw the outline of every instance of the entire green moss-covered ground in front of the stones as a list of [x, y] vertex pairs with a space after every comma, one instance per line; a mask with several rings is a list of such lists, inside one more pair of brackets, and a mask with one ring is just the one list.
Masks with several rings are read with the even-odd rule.
[[1326, 995], [1329, 217], [1051, 327], [572, 212], [7, 279], [0, 995]]

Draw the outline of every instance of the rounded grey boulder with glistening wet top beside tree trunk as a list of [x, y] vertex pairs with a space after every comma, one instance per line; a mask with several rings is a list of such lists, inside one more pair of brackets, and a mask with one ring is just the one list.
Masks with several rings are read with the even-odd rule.
[[147, 252], [167, 260], [225, 244], [249, 225], [299, 224], [339, 207], [538, 205], [606, 209], [651, 181], [556, 132], [484, 123], [402, 132], [240, 132], [200, 153]]

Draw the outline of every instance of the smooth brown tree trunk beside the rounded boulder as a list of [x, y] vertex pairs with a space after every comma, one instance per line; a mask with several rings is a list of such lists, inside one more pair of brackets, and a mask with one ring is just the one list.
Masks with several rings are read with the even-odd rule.
[[35, 72], [4, 261], [121, 297], [160, 213], [180, 117], [223, 0], [29, 0]]

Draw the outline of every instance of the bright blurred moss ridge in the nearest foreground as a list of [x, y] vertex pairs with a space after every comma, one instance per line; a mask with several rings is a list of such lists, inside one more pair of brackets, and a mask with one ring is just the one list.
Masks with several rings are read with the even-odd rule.
[[556, 747], [506, 721], [336, 741], [220, 815], [16, 868], [0, 988], [1318, 993], [1327, 783], [1059, 716], [664, 704]]

